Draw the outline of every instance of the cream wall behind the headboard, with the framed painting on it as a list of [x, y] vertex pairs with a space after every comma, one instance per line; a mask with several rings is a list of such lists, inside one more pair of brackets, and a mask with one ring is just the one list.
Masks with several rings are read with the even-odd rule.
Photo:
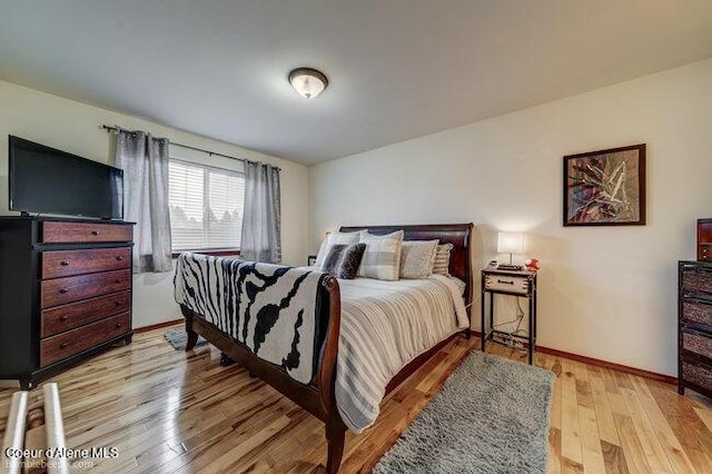
[[[477, 268], [496, 229], [524, 230], [538, 344], [674, 375], [676, 261], [712, 216], [711, 86], [706, 60], [312, 167], [312, 251], [337, 225], [474, 221]], [[564, 228], [563, 156], [642, 142], [647, 225]]]

